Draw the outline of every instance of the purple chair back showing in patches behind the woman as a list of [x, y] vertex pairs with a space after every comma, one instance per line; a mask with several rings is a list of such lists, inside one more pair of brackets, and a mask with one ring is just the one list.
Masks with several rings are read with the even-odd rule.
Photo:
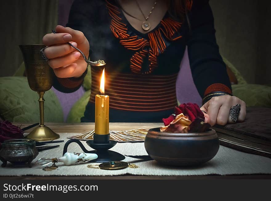
[[[74, 0], [59, 0], [59, 25], [66, 26], [73, 1]], [[65, 94], [59, 92], [55, 88], [52, 89], [55, 91], [55, 94], [59, 98], [63, 109], [64, 121], [66, 121], [71, 107], [79, 98], [82, 97], [85, 90], [83, 89], [83, 86], [81, 86], [77, 91], [70, 94]], [[176, 94], [180, 103], [192, 102], [201, 106], [201, 97], [192, 78], [187, 48], [184, 52], [184, 57], [180, 64], [180, 71], [176, 81]]]

